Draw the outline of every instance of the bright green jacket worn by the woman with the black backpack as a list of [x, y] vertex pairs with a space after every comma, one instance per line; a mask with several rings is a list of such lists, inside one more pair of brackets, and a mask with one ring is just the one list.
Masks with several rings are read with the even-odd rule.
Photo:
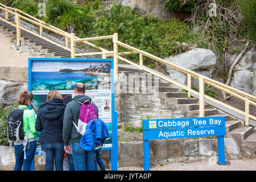
[[23, 112], [23, 132], [27, 134], [27, 139], [36, 137], [36, 129], [35, 129], [35, 112], [34, 110], [28, 109], [25, 105], [19, 105], [19, 108], [25, 109]]

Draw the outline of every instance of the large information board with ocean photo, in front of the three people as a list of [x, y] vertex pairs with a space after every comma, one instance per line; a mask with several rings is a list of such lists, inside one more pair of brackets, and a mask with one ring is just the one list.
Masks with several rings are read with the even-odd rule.
[[110, 65], [108, 60], [31, 60], [30, 88], [34, 95], [32, 108], [37, 111], [47, 101], [47, 94], [52, 89], [61, 93], [67, 105], [75, 97], [75, 84], [82, 82], [85, 84], [86, 96], [92, 98], [98, 107], [99, 118], [108, 126], [109, 138], [103, 147], [112, 147]]

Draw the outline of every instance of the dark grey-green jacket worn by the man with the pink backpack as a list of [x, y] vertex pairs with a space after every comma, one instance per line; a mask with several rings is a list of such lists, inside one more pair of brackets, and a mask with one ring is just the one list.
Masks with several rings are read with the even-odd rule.
[[[77, 132], [76, 127], [74, 126], [72, 121], [74, 121], [75, 124], [77, 125], [78, 120], [79, 120], [81, 104], [77, 101], [85, 102], [86, 100], [89, 100], [89, 99], [90, 99], [90, 97], [88, 97], [86, 95], [79, 95], [79, 96], [74, 97], [71, 102], [68, 102], [66, 109], [65, 109], [64, 118], [63, 118], [64, 146], [69, 145], [69, 139], [71, 139], [72, 143], [80, 143], [82, 135]], [[92, 102], [92, 105], [95, 107], [95, 109], [97, 110], [97, 114], [98, 114], [98, 107], [93, 102]]]

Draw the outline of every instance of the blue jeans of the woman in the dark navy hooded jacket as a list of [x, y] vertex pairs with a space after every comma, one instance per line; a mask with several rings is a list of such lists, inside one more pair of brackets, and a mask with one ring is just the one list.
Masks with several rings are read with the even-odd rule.
[[46, 171], [52, 171], [53, 164], [56, 171], [63, 171], [64, 143], [42, 143], [41, 146], [46, 152]]

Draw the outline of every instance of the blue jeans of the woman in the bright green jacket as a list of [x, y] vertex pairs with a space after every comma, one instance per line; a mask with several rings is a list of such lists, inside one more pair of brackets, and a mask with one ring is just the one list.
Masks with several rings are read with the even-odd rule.
[[14, 152], [15, 152], [15, 167], [14, 171], [21, 171], [23, 166], [23, 171], [29, 171], [32, 160], [35, 156], [36, 151], [36, 140], [28, 142], [26, 146], [26, 159], [24, 159], [24, 151], [23, 151], [23, 144], [14, 145]]

